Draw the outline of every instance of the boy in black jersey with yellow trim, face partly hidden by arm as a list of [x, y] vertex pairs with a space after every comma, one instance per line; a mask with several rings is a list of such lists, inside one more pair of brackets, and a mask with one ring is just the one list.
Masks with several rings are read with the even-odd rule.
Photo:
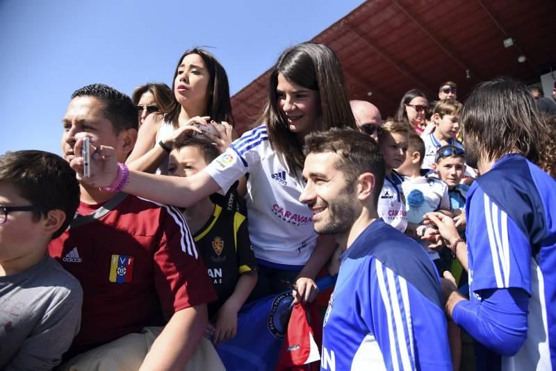
[[[192, 176], [219, 155], [218, 149], [206, 140], [177, 142], [170, 152], [168, 174]], [[183, 216], [218, 295], [215, 302], [208, 304], [210, 322], [206, 327], [206, 335], [217, 344], [236, 336], [238, 311], [257, 280], [247, 218], [213, 203], [210, 197], [186, 208]]]

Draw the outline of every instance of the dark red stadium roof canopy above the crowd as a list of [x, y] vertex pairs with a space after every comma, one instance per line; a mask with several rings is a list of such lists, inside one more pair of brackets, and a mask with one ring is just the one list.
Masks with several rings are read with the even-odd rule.
[[[455, 81], [464, 100], [496, 76], [539, 81], [556, 65], [555, 17], [554, 0], [371, 0], [313, 41], [338, 54], [350, 99], [386, 117], [411, 88], [434, 100], [443, 81]], [[231, 99], [240, 133], [265, 103], [268, 74]]]

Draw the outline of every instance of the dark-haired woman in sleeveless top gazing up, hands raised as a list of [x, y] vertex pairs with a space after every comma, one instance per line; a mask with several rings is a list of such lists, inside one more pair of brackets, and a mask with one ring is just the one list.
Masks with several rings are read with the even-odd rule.
[[[150, 173], [158, 169], [167, 174], [167, 158], [174, 143], [193, 133], [205, 135], [220, 151], [231, 143], [230, 124], [234, 124], [234, 118], [228, 77], [211, 53], [199, 48], [183, 53], [174, 70], [171, 92], [164, 115], [146, 115], [142, 122], [136, 145], [126, 160], [130, 169]], [[146, 110], [148, 113], [149, 105]], [[223, 125], [211, 124], [212, 121]], [[198, 126], [211, 126], [214, 130], [207, 130], [218, 136]]]

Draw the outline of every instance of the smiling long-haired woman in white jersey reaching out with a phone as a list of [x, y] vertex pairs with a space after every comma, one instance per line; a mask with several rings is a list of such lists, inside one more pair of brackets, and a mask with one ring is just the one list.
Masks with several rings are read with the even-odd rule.
[[[113, 149], [97, 151], [89, 184], [106, 186], [122, 179], [122, 190], [147, 199], [190, 206], [250, 172], [247, 206], [249, 230], [259, 263], [253, 297], [287, 290], [295, 299], [311, 301], [318, 292], [313, 281], [336, 249], [329, 236], [313, 231], [313, 215], [300, 203], [305, 135], [331, 127], [357, 129], [347, 100], [338, 58], [325, 45], [305, 42], [286, 49], [270, 71], [268, 102], [261, 126], [247, 131], [204, 170], [186, 178], [118, 173]], [[82, 140], [76, 142], [81, 154]], [[102, 154], [103, 160], [97, 159]], [[83, 170], [83, 158], [72, 161]], [[124, 168], [123, 165], [120, 167]], [[117, 174], [124, 174], [123, 177]], [[127, 182], [126, 180], [129, 180]]]

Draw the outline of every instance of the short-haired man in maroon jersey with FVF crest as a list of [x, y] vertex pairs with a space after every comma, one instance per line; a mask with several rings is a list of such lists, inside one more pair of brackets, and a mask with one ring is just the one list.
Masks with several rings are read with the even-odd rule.
[[[65, 159], [87, 135], [123, 162], [137, 126], [137, 110], [122, 92], [102, 84], [76, 90], [63, 118]], [[119, 183], [98, 188], [80, 180], [79, 215], [49, 245], [84, 292], [81, 331], [66, 356], [74, 358], [63, 367], [199, 370], [213, 359], [203, 366], [221, 370], [202, 337], [206, 303], [216, 295], [179, 210], [119, 192]]]

